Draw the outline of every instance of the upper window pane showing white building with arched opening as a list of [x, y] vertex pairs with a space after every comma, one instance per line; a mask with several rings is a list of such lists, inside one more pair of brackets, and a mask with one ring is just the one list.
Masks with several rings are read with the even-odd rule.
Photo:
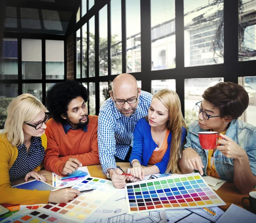
[[175, 68], [175, 0], [151, 0], [151, 69]]

